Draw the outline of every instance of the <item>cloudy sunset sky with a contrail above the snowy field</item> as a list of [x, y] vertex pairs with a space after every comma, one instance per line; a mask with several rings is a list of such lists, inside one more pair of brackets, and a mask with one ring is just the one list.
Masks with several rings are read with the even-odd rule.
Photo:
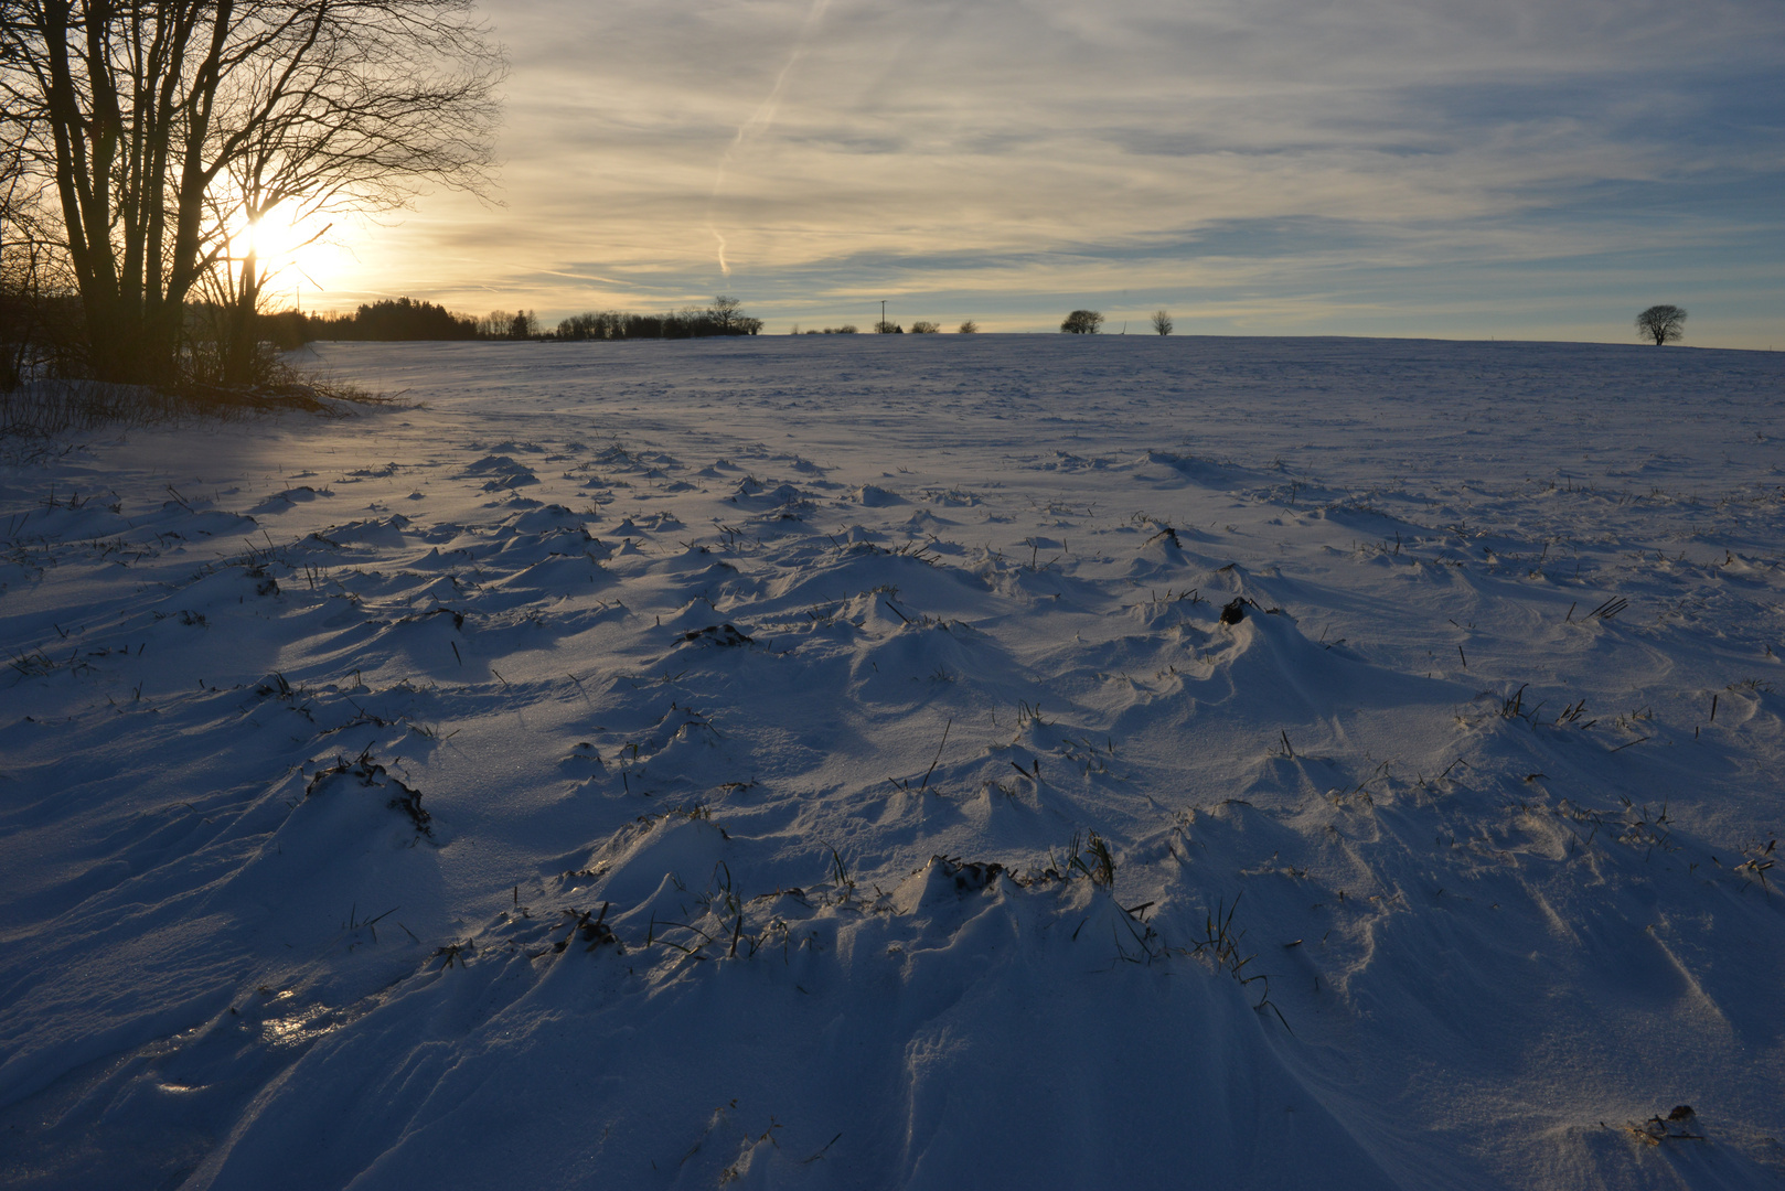
[[487, 195], [305, 309], [1785, 346], [1780, 0], [489, 0]]

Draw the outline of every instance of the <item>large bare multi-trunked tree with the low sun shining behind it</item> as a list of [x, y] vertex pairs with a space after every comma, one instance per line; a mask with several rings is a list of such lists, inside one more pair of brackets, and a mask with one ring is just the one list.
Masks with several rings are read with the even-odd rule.
[[471, 0], [16, 0], [0, 7], [0, 136], [61, 207], [91, 366], [182, 370], [187, 300], [237, 318], [239, 379], [273, 209], [402, 205], [477, 187], [502, 59]]

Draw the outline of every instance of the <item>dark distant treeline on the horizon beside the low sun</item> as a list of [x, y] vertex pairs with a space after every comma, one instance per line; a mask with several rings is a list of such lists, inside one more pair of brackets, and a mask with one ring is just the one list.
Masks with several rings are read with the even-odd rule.
[[671, 314], [591, 311], [566, 318], [552, 332], [541, 330], [532, 311], [491, 311], [471, 318], [432, 302], [387, 298], [352, 314], [266, 314], [262, 329], [264, 339], [296, 346], [312, 339], [694, 339], [753, 336], [762, 330], [762, 320], [744, 314], [737, 298], [721, 296], [707, 309], [684, 307]]

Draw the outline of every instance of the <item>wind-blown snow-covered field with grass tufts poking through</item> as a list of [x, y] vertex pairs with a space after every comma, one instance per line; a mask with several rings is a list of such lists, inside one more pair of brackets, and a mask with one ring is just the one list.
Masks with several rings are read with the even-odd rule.
[[5, 1186], [1780, 1186], [1785, 357], [320, 355], [7, 448]]

